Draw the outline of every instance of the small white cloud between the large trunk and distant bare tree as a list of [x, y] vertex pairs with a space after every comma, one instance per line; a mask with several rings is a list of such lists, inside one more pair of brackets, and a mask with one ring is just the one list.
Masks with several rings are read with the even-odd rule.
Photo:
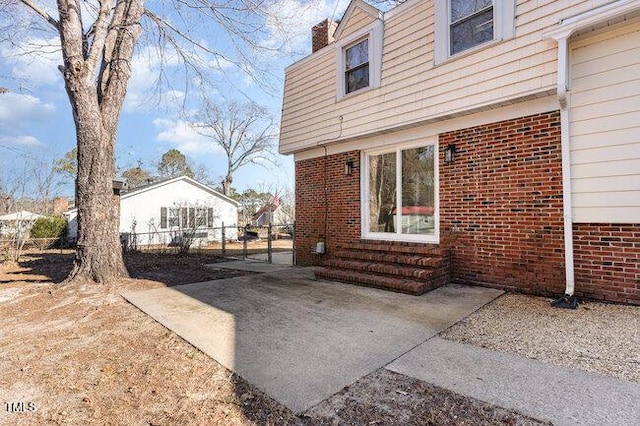
[[194, 155], [220, 152], [216, 144], [196, 132], [184, 120], [157, 118], [153, 120], [153, 125], [158, 130], [157, 141], [169, 143], [183, 154]]

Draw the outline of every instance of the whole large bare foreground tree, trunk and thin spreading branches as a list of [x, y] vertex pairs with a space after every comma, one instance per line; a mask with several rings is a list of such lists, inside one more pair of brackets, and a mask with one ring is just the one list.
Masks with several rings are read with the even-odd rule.
[[[21, 33], [46, 31], [60, 40], [58, 68], [72, 107], [78, 149], [78, 241], [67, 282], [108, 283], [128, 275], [112, 181], [118, 121], [136, 48], [151, 47], [159, 60], [180, 62], [185, 85], [206, 84], [210, 70], [222, 63], [234, 64], [266, 85], [269, 76], [257, 69], [251, 52], [263, 47], [259, 40], [266, 32], [269, 5], [269, 0], [156, 1], [154, 11], [145, 8], [143, 0], [57, 0], [55, 9], [46, 0], [0, 0], [4, 41], [15, 39], [17, 46]], [[143, 28], [147, 39], [141, 39]], [[231, 42], [224, 53], [203, 41], [216, 41], [225, 32]], [[141, 46], [140, 40], [145, 41]], [[161, 74], [159, 80], [170, 78]]]

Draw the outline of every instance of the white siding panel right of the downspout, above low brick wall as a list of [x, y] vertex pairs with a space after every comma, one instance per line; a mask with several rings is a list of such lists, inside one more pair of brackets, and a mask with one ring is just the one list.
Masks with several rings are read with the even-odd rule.
[[571, 45], [573, 221], [640, 223], [640, 21]]

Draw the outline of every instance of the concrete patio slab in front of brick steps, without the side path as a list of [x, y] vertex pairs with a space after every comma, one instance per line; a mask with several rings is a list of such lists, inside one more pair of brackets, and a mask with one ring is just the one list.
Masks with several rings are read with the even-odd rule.
[[420, 297], [317, 281], [310, 269], [123, 296], [294, 412], [305, 411], [500, 295]]

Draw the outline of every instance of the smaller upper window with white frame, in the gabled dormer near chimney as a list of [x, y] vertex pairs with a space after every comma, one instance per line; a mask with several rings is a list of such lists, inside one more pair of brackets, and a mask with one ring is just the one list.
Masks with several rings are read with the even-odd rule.
[[336, 99], [380, 86], [381, 20], [336, 42]]

